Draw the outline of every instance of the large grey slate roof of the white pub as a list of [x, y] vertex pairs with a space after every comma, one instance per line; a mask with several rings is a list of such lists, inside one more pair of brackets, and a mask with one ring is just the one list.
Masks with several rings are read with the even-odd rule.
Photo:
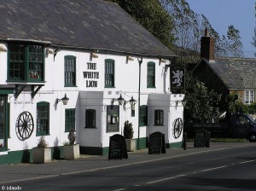
[[118, 4], [102, 0], [1, 0], [0, 25], [2, 41], [32, 39], [121, 54], [174, 56]]

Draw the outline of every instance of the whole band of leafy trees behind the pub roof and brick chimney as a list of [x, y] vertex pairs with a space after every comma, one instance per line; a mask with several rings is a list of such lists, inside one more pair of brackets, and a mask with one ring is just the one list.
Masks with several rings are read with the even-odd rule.
[[[186, 62], [196, 62], [201, 49], [201, 37], [207, 28], [215, 38], [215, 52], [218, 56], [243, 56], [240, 32], [229, 26], [226, 36], [219, 36], [207, 17], [196, 14], [186, 0], [105, 0], [119, 6], [141, 23], [156, 38]], [[256, 29], [255, 29], [256, 32]], [[256, 34], [255, 34], [256, 35]], [[253, 38], [256, 47], [256, 38]], [[188, 54], [189, 52], [189, 54]]]

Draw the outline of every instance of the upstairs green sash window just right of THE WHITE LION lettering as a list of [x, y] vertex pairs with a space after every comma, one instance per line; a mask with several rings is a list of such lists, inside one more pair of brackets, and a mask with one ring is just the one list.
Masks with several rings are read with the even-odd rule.
[[114, 61], [112, 59], [105, 60], [105, 87], [114, 87]]

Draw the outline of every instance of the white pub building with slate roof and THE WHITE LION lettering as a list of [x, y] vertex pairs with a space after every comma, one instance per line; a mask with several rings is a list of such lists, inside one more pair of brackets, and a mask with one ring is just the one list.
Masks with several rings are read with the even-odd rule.
[[116, 3], [9, 0], [0, 10], [0, 164], [32, 161], [41, 136], [60, 159], [73, 128], [80, 153], [108, 154], [126, 120], [139, 149], [156, 131], [181, 147], [175, 55]]

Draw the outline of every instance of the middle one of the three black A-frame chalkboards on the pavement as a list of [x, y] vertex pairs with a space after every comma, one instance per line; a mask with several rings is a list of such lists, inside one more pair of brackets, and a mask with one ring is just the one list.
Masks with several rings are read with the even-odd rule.
[[149, 135], [148, 153], [166, 153], [165, 134], [154, 132]]

